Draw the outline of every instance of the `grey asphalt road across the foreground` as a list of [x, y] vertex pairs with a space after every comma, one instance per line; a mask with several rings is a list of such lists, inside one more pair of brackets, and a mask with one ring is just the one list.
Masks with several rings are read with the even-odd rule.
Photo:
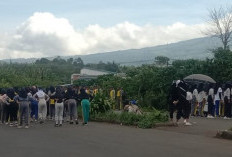
[[52, 122], [29, 129], [0, 125], [0, 157], [231, 157], [232, 141], [215, 138], [232, 120], [193, 118], [193, 126], [139, 129]]

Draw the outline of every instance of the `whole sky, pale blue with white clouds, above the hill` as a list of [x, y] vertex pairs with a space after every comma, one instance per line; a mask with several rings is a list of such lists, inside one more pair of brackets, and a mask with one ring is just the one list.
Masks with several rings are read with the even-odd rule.
[[231, 0], [0, 1], [0, 59], [84, 55], [203, 37]]

